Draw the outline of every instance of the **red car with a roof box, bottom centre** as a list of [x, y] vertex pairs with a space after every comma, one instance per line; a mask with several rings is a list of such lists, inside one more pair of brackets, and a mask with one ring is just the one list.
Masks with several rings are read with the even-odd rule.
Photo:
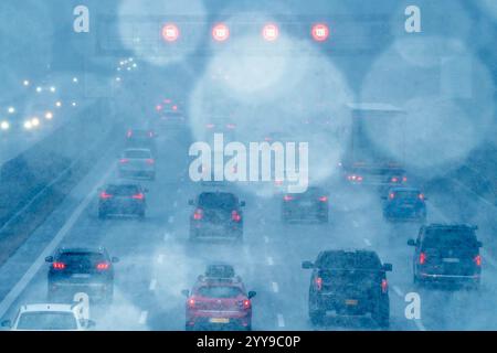
[[239, 276], [234, 274], [230, 277], [199, 276], [191, 292], [186, 289], [182, 293], [188, 298], [187, 331], [252, 329], [251, 299], [256, 292], [246, 292]]

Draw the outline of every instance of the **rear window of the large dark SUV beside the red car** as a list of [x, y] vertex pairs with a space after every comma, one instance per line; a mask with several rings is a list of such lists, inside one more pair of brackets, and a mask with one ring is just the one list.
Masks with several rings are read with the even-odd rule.
[[370, 253], [331, 253], [320, 256], [317, 264], [324, 269], [380, 269], [377, 255]]

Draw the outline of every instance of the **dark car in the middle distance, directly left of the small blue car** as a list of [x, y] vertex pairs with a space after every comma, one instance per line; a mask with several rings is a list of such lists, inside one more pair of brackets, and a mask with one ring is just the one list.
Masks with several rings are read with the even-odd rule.
[[314, 220], [328, 222], [328, 193], [316, 186], [303, 193], [286, 193], [282, 200], [283, 222]]

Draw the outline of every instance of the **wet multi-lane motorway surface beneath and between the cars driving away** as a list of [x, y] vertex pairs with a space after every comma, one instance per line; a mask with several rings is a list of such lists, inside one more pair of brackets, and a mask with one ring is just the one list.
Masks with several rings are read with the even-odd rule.
[[[157, 180], [142, 182], [149, 190], [145, 221], [98, 220], [96, 188], [115, 180], [116, 156], [121, 136], [65, 201], [0, 267], [0, 318], [11, 319], [23, 303], [46, 302], [44, 257], [60, 246], [105, 246], [116, 265], [115, 298], [110, 307], [92, 306], [99, 330], [183, 330], [184, 297], [205, 264], [223, 260], [235, 266], [253, 299], [254, 330], [315, 330], [307, 315], [309, 272], [300, 268], [321, 249], [371, 248], [385, 263], [389, 274], [391, 330], [495, 330], [497, 244], [493, 240], [496, 208], [469, 191], [454, 185], [453, 195], [430, 194], [429, 222], [459, 222], [454, 199], [476, 207], [478, 236], [484, 243], [483, 287], [476, 291], [416, 289], [412, 285], [412, 248], [415, 225], [393, 226], [381, 216], [374, 194], [348, 195], [334, 185], [330, 224], [283, 225], [281, 200], [260, 199], [239, 191], [245, 207], [243, 244], [191, 244], [188, 242], [188, 199], [202, 186], [188, 176], [188, 141], [184, 131], [162, 133], [158, 141]], [[452, 181], [446, 181], [452, 183]], [[451, 186], [452, 188], [452, 186]], [[451, 189], [450, 188], [450, 189]], [[444, 188], [446, 189], [446, 188]], [[463, 207], [464, 210], [464, 207]], [[465, 222], [472, 220], [465, 220]], [[404, 315], [404, 297], [421, 296], [420, 320]], [[325, 330], [376, 330], [368, 319], [330, 319]]]

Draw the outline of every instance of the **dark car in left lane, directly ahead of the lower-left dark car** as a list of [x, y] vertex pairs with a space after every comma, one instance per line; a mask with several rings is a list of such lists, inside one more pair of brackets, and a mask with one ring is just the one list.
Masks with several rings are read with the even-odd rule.
[[147, 189], [139, 184], [108, 184], [99, 190], [98, 217], [108, 215], [137, 215], [145, 217]]

